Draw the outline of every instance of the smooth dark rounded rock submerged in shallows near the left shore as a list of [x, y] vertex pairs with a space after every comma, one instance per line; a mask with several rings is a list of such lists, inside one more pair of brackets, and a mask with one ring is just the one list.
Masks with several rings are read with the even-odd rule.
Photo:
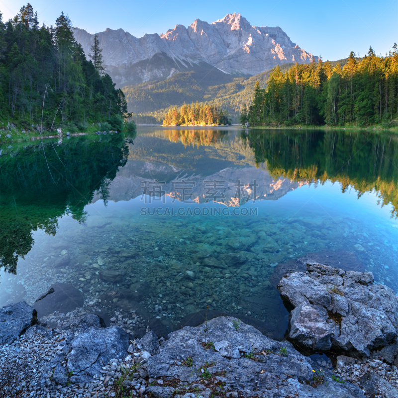
[[[64, 257], [64, 256], [63, 256]], [[51, 285], [48, 293], [36, 300], [33, 307], [40, 318], [54, 311], [67, 313], [83, 306], [83, 295], [76, 288], [66, 283]]]

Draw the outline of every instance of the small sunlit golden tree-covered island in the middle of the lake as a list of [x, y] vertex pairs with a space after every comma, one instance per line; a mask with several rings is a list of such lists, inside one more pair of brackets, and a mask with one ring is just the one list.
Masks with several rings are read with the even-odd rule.
[[200, 105], [184, 103], [180, 111], [176, 107], [169, 109], [163, 120], [164, 126], [211, 126], [231, 124], [228, 120], [228, 112], [224, 112], [217, 105]]

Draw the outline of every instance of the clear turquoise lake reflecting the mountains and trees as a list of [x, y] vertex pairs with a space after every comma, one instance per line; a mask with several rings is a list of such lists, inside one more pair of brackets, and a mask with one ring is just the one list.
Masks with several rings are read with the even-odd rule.
[[281, 338], [283, 264], [318, 256], [398, 292], [397, 166], [398, 136], [365, 131], [139, 126], [3, 146], [0, 306], [26, 300], [52, 326], [95, 312], [131, 336], [222, 312]]

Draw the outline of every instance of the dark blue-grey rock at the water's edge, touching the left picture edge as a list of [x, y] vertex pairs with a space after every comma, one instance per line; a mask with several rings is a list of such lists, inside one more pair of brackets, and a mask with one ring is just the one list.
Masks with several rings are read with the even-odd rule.
[[25, 301], [2, 307], [0, 310], [0, 346], [11, 344], [36, 321], [36, 310]]

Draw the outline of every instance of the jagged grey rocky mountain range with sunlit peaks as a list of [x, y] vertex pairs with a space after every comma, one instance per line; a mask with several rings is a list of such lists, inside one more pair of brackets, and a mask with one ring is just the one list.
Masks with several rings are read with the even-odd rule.
[[[73, 28], [86, 56], [94, 35]], [[308, 63], [312, 54], [293, 43], [280, 27], [251, 26], [239, 13], [188, 28], [176, 25], [165, 34], [136, 38], [123, 29], [98, 33], [104, 66], [118, 87], [167, 79], [179, 72], [218, 70], [230, 80], [253, 76], [277, 64]], [[211, 73], [210, 73], [211, 74]]]

